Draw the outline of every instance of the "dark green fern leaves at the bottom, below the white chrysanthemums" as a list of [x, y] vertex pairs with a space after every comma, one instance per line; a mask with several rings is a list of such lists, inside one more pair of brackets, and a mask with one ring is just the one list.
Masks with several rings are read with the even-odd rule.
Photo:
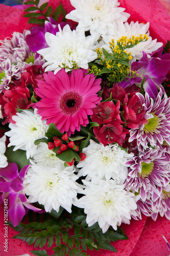
[[20, 223], [14, 229], [20, 233], [13, 238], [23, 240], [29, 245], [34, 244], [38, 250], [31, 252], [38, 256], [48, 256], [46, 250], [43, 250], [45, 244], [53, 249], [54, 256], [89, 256], [85, 252], [87, 248], [97, 251], [99, 249], [116, 251], [110, 243], [127, 239], [120, 228], [116, 232], [109, 229], [103, 233], [98, 223], [88, 227], [86, 215], [77, 207], [72, 207], [70, 215], [65, 211], [58, 219], [50, 217], [43, 222]]

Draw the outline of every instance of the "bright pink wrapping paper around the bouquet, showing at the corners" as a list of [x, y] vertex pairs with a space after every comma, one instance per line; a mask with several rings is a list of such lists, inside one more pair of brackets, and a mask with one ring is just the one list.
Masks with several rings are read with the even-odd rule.
[[[48, 1], [54, 8], [59, 4], [59, 0]], [[120, 7], [126, 8], [126, 12], [131, 13], [130, 21], [137, 20], [141, 23], [150, 22], [150, 34], [153, 39], [157, 38], [166, 44], [170, 39], [170, 16], [158, 0], [119, 0]], [[63, 6], [70, 12], [73, 8], [69, 0], [61, 0]], [[22, 17], [23, 11], [0, 4], [0, 39], [11, 36], [14, 31], [23, 32], [30, 29], [32, 25], [27, 24], [27, 18]], [[12, 228], [8, 228], [8, 252], [4, 251], [4, 210], [0, 209], [0, 255], [15, 256], [25, 253], [33, 255], [34, 245], [28, 245], [21, 240], [12, 239], [17, 234]], [[143, 216], [141, 221], [132, 220], [130, 225], [122, 225], [123, 230], [129, 240], [114, 243], [117, 253], [106, 250], [90, 251], [91, 256], [168, 256], [167, 249], [161, 234], [170, 241], [170, 222], [158, 217], [154, 222], [151, 218]], [[45, 249], [50, 252], [51, 250]], [[51, 255], [53, 252], [51, 251]]]

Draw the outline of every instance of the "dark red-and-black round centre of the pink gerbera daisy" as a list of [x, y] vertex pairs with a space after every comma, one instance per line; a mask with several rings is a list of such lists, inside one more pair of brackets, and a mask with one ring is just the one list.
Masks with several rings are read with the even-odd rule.
[[68, 92], [61, 96], [60, 108], [66, 115], [74, 115], [80, 109], [82, 101], [78, 92]]

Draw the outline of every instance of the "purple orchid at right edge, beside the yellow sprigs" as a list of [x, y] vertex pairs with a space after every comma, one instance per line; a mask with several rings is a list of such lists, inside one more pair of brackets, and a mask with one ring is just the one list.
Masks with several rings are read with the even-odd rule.
[[161, 58], [148, 58], [147, 53], [143, 52], [143, 57], [139, 61], [134, 61], [132, 63], [132, 70], [137, 71], [141, 78], [146, 78], [143, 84], [143, 89], [154, 100], [158, 95], [157, 86], [164, 90], [161, 83], [166, 79], [169, 68], [169, 53], [163, 54]]

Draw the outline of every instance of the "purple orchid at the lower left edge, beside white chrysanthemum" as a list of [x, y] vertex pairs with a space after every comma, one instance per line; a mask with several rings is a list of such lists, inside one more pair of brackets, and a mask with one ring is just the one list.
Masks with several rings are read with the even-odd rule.
[[14, 227], [19, 224], [29, 209], [41, 210], [31, 205], [25, 196], [23, 179], [29, 167], [30, 165], [26, 165], [18, 173], [17, 164], [8, 163], [7, 167], [0, 169], [0, 202], [8, 200], [8, 217]]

